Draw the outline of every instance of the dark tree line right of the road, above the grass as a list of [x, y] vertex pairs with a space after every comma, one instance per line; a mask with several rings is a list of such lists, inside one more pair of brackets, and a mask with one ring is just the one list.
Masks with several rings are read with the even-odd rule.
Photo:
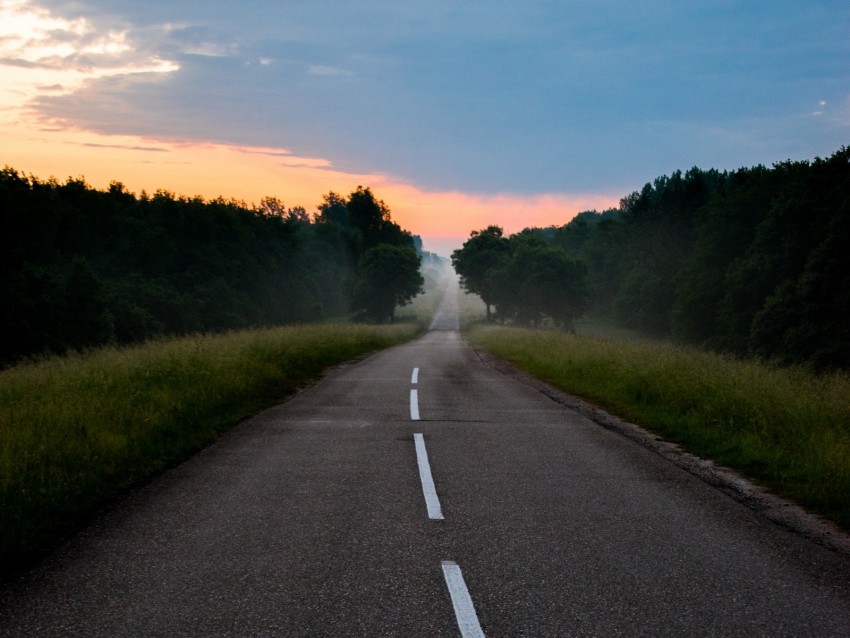
[[850, 148], [677, 171], [561, 227], [475, 231], [452, 259], [503, 320], [587, 313], [738, 356], [847, 368]]

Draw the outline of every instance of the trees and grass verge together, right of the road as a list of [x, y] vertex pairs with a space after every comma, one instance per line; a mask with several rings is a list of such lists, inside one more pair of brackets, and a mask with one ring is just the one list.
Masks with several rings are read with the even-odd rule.
[[676, 171], [452, 263], [473, 343], [850, 529], [850, 148]]

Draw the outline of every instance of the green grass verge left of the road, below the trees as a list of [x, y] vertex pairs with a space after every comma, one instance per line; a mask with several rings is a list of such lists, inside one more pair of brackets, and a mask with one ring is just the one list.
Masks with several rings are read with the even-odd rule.
[[0, 574], [327, 367], [419, 330], [287, 327], [107, 348], [0, 371]]

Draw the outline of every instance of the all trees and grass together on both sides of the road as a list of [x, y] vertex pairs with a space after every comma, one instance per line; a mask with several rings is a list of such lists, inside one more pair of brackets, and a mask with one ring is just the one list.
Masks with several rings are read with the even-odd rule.
[[[4, 570], [327, 366], [412, 338], [446, 276], [362, 187], [308, 214], [7, 167], [0, 211]], [[842, 148], [474, 230], [452, 255], [461, 325], [499, 322], [470, 338], [850, 529], [848, 211]]]

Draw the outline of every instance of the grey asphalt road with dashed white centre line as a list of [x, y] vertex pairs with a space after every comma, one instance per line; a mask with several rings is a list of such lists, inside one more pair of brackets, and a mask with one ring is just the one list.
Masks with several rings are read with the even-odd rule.
[[0, 636], [850, 636], [846, 557], [488, 366], [453, 301], [121, 499]]

